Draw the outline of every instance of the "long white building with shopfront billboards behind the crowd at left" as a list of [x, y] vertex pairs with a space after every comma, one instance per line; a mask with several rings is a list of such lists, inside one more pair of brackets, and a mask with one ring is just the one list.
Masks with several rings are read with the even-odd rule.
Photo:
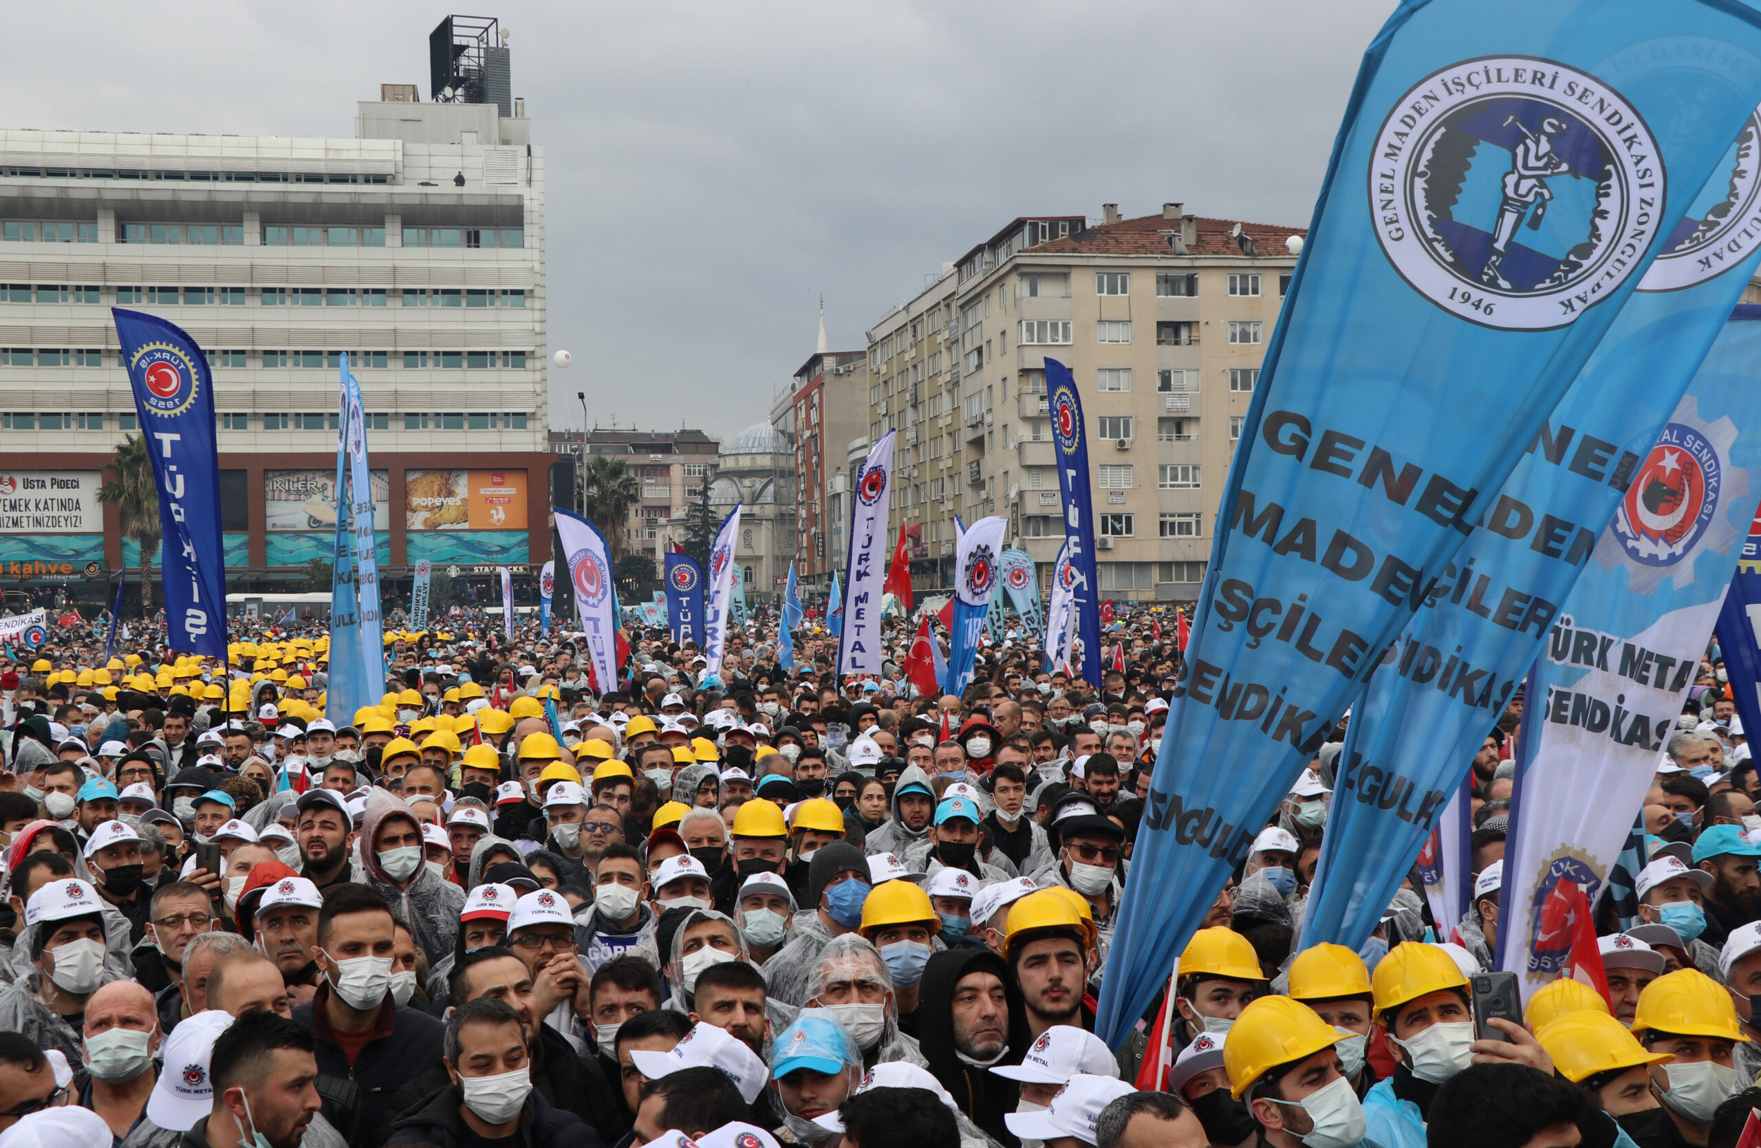
[[[234, 590], [333, 556], [343, 352], [393, 600], [421, 558], [549, 556], [542, 150], [523, 102], [386, 95], [357, 106], [354, 139], [0, 132], [9, 585], [19, 563], [137, 562], [95, 498], [137, 433], [111, 306], [162, 315], [208, 354]], [[14, 493], [42, 482], [72, 500], [44, 512]]]

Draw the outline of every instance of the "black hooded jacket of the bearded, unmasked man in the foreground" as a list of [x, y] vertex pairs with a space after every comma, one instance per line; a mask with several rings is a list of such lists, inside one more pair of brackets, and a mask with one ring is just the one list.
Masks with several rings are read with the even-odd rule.
[[930, 958], [917, 997], [917, 1048], [960, 1111], [997, 1143], [1016, 1148], [1021, 1141], [1004, 1123], [1004, 1113], [1013, 1113], [1021, 1099], [1020, 1085], [962, 1060], [954, 1049], [954, 986], [974, 972], [995, 974], [1009, 1000], [1009, 1046], [997, 1063], [1021, 1063], [1030, 1041], [1027, 1002], [1009, 965], [990, 949], [949, 949]]

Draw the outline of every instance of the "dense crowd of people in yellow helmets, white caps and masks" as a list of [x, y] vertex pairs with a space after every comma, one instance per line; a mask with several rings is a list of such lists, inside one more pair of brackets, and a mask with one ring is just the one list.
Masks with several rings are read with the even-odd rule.
[[350, 713], [312, 627], [7, 648], [0, 1148], [1738, 1143], [1761, 815], [1712, 657], [1632, 916], [1601, 907], [1606, 995], [1474, 1012], [1518, 699], [1470, 762], [1463, 921], [1414, 873], [1361, 949], [1296, 947], [1335, 740], [1102, 1042], [1162, 622], [1122, 609], [1099, 683], [1011, 630], [960, 695], [896, 673], [905, 627], [847, 681], [763, 613], [713, 674], [636, 629], [615, 688], [565, 634], [394, 632]]

